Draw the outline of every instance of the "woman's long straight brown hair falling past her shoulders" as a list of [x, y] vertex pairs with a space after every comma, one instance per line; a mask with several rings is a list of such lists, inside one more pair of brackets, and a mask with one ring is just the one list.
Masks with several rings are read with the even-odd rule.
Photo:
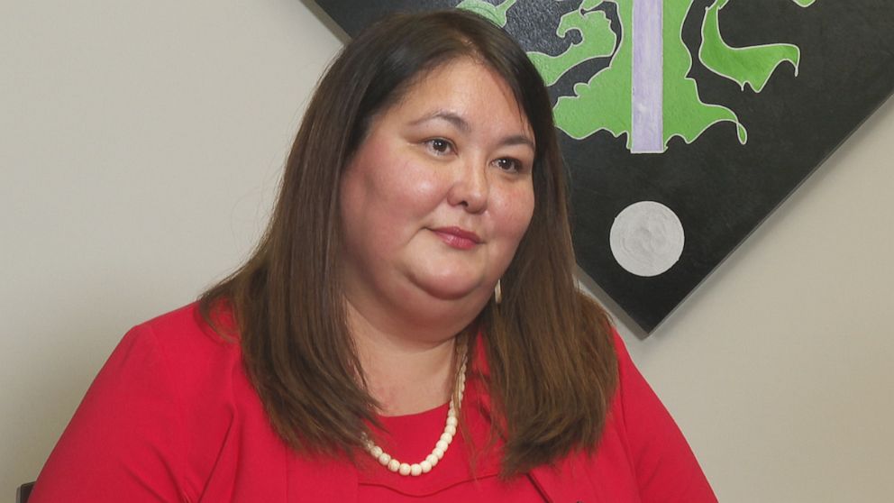
[[[288, 156], [267, 232], [242, 268], [200, 298], [237, 322], [248, 375], [296, 450], [352, 452], [375, 423], [351, 343], [339, 271], [342, 170], [376, 114], [427, 72], [472, 58], [506, 81], [534, 130], [534, 215], [485, 306], [488, 390], [506, 440], [503, 474], [594, 449], [616, 387], [606, 313], [579, 293], [552, 104], [524, 50], [474, 14], [400, 14], [351, 41], [320, 81]], [[360, 376], [360, 382], [358, 379]], [[505, 425], [505, 426], [504, 426]]]

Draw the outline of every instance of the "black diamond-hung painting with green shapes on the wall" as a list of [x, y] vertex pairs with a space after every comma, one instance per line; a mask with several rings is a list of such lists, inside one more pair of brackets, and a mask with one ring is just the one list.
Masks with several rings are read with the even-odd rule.
[[349, 34], [466, 9], [522, 44], [552, 96], [579, 266], [643, 334], [894, 90], [890, 0], [317, 4]]

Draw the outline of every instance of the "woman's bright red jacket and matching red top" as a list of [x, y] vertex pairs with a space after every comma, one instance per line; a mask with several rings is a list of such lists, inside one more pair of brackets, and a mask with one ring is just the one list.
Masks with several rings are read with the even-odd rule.
[[[495, 477], [498, 453], [479, 453], [473, 480], [470, 450], [457, 434], [442, 462], [414, 478], [365, 453], [354, 466], [290, 451], [245, 375], [239, 344], [186, 306], [124, 336], [29, 501], [716, 502], [680, 430], [615, 338], [620, 382], [595, 455], [574, 453], [504, 482]], [[416, 454], [430, 452], [443, 428], [442, 408], [384, 418], [394, 438], [383, 447], [397, 459], [422, 459]], [[483, 445], [490, 406], [471, 373], [461, 414], [473, 444]]]

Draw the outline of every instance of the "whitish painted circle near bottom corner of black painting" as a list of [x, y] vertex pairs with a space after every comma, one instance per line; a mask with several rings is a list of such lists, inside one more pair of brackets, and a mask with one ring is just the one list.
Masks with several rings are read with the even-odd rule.
[[640, 201], [617, 214], [608, 237], [615, 260], [627, 272], [652, 277], [669, 270], [683, 252], [683, 224], [669, 207]]

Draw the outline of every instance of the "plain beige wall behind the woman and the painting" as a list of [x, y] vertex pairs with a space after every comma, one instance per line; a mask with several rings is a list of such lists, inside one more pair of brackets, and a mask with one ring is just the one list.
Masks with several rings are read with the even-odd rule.
[[[0, 3], [0, 499], [128, 327], [251, 249], [340, 47], [308, 9]], [[622, 326], [723, 501], [894, 494], [892, 138], [889, 104], [651, 338]]]

